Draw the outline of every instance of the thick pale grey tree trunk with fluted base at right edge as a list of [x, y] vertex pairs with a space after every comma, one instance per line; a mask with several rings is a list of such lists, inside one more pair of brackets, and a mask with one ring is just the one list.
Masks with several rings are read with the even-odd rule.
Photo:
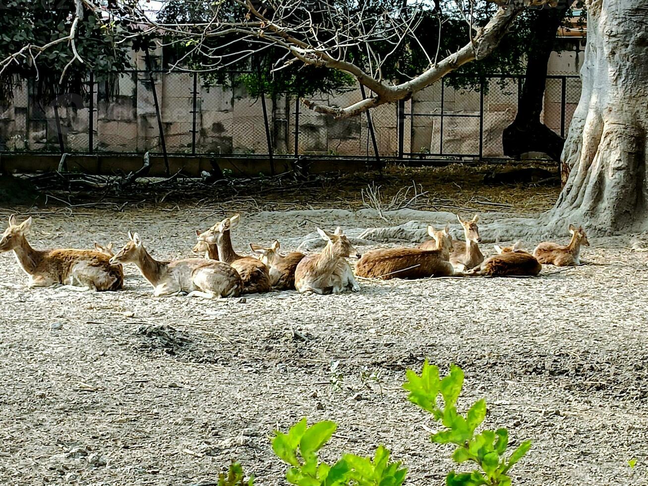
[[648, 7], [645, 0], [587, 0], [583, 91], [562, 163], [572, 168], [551, 226], [595, 233], [648, 229]]

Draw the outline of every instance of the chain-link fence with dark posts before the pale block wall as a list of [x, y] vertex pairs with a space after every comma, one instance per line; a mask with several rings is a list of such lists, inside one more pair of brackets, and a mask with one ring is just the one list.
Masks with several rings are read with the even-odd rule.
[[[0, 105], [0, 152], [502, 158], [522, 76], [488, 76], [478, 89], [444, 80], [411, 100], [349, 119], [303, 107], [295, 97], [250, 97], [242, 86], [209, 86], [186, 72], [126, 71], [114, 82], [88, 76], [84, 95], [43, 104], [30, 82]], [[578, 76], [548, 76], [541, 121], [564, 137], [577, 106]], [[346, 106], [360, 89], [314, 101]]]

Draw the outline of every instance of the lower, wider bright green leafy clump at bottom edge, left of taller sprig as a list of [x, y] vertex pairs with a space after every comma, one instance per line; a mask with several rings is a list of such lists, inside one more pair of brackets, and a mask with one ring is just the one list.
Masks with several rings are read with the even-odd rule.
[[389, 462], [389, 450], [376, 449], [374, 457], [344, 454], [334, 465], [320, 461], [318, 452], [330, 440], [337, 426], [322, 421], [307, 425], [302, 419], [288, 430], [277, 431], [272, 450], [291, 467], [286, 480], [297, 486], [400, 486], [405, 481], [406, 469], [400, 462]]

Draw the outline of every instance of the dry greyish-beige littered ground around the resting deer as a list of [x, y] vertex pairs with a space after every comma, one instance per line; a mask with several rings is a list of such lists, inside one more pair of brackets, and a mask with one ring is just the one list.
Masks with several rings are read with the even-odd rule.
[[[243, 216], [240, 251], [314, 229]], [[220, 218], [182, 206], [41, 213], [30, 242], [119, 247], [133, 229], [155, 257], [188, 256], [194, 229]], [[329, 459], [382, 443], [409, 484], [441, 485], [452, 448], [430, 443], [434, 422], [400, 388], [427, 357], [463, 367], [462, 404], [485, 397], [487, 426], [533, 439], [515, 484], [648, 484], [648, 254], [627, 238], [590, 242], [583, 259], [597, 265], [537, 279], [362, 281], [359, 294], [246, 303], [154, 299], [133, 266], [122, 292], [29, 291], [1, 255], [0, 483], [189, 485], [237, 459], [258, 485], [284, 484], [269, 437], [308, 416], [338, 422]]]

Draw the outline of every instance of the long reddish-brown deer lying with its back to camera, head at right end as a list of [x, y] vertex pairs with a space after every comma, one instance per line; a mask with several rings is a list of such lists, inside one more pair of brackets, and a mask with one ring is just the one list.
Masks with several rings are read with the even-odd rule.
[[452, 240], [448, 226], [436, 231], [428, 226], [428, 235], [435, 248], [382, 248], [362, 255], [356, 265], [356, 275], [377, 279], [422, 279], [454, 275], [450, 264]]

